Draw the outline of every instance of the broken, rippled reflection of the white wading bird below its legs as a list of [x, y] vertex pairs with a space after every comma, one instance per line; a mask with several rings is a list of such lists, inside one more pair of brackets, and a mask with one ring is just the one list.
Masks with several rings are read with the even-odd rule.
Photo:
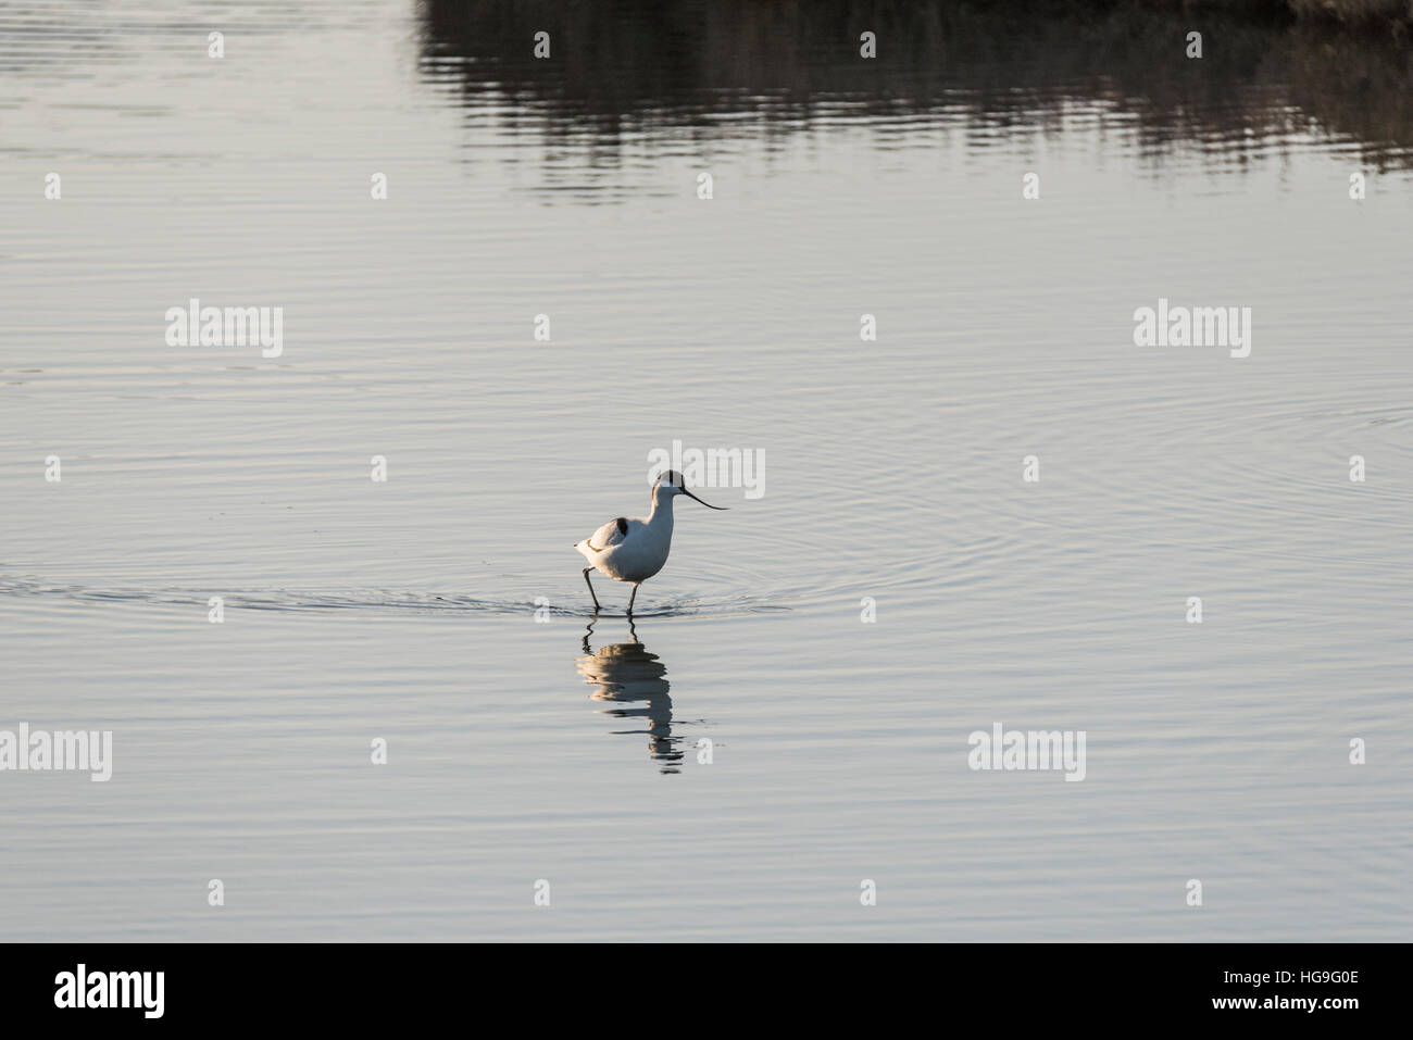
[[[595, 650], [589, 646], [593, 625], [584, 632], [584, 657], [575, 661], [584, 681], [595, 691], [595, 701], [606, 701], [605, 715], [617, 719], [642, 719], [644, 729], [616, 729], [616, 733], [646, 733], [649, 757], [661, 764], [663, 773], [680, 773], [684, 750], [682, 738], [673, 736], [673, 698], [667, 691], [667, 667], [657, 654], [649, 653], [637, 640], [637, 629], [629, 622], [632, 643], [610, 643]], [[681, 723], [678, 723], [681, 725]]]

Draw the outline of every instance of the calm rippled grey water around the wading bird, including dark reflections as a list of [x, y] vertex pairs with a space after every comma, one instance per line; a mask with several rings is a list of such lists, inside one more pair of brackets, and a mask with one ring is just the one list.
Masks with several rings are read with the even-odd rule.
[[[1409, 55], [0, 6], [0, 731], [113, 732], [106, 783], [0, 772], [0, 934], [1406, 940]], [[283, 352], [168, 345], [192, 298]], [[1136, 346], [1160, 298], [1249, 356]], [[674, 441], [763, 493], [595, 620], [571, 545]], [[972, 770], [996, 722], [1082, 783]]]

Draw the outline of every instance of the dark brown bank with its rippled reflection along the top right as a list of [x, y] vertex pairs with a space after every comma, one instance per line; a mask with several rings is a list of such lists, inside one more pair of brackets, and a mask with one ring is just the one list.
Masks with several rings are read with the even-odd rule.
[[[942, 0], [420, 0], [422, 76], [468, 109], [538, 127], [545, 154], [612, 165], [627, 138], [784, 136], [935, 120], [995, 144], [1058, 129], [1075, 106], [1243, 167], [1296, 136], [1347, 141], [1368, 170], [1413, 167], [1413, 0], [1183, 4]], [[1402, 11], [1395, 18], [1392, 14]], [[537, 31], [552, 61], [531, 57]], [[858, 54], [877, 34], [877, 58]], [[1186, 57], [1190, 31], [1202, 58]], [[519, 113], [519, 114], [517, 114]]]

